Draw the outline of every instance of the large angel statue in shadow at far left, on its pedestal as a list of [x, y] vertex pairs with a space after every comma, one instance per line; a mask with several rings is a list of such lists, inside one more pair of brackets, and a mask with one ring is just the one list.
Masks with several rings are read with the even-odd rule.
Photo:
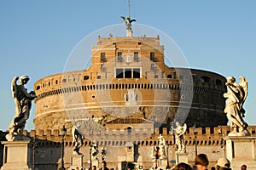
[[8, 141], [26, 139], [23, 136], [23, 129], [32, 107], [32, 100], [37, 96], [34, 91], [27, 93], [24, 85], [29, 81], [28, 76], [21, 76], [20, 82], [17, 84], [19, 77], [14, 77], [12, 81], [12, 95], [15, 100], [15, 117], [9, 125], [9, 134], [6, 138]]

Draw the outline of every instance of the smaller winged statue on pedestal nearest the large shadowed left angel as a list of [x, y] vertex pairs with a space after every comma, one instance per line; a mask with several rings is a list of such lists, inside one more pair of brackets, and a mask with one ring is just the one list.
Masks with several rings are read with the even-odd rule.
[[84, 134], [81, 133], [81, 131], [79, 130], [80, 125], [78, 126], [73, 126], [72, 127], [72, 136], [73, 136], [73, 155], [82, 155], [79, 150], [80, 147], [84, 144]]

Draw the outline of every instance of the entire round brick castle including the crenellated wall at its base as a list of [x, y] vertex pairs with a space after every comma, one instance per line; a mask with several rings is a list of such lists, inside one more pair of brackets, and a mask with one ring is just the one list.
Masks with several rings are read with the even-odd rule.
[[[126, 37], [98, 37], [91, 51], [90, 68], [35, 82], [35, 130], [24, 132], [32, 138], [32, 169], [61, 167], [63, 126], [67, 128], [67, 169], [100, 166], [101, 153], [95, 160], [90, 156], [95, 139], [99, 150], [107, 150], [108, 167], [151, 169], [151, 150], [159, 145], [160, 134], [166, 140], [165, 167], [172, 167], [177, 160], [172, 122], [185, 122], [189, 127], [184, 140], [190, 165], [197, 153], [207, 154], [209, 167], [226, 155], [224, 137], [230, 127], [224, 114], [225, 77], [211, 71], [169, 67], [160, 37], [132, 37], [129, 29]], [[83, 155], [75, 165], [74, 125], [81, 126], [85, 137], [80, 149]], [[256, 136], [256, 127], [248, 130]], [[163, 167], [160, 160], [155, 163]]]

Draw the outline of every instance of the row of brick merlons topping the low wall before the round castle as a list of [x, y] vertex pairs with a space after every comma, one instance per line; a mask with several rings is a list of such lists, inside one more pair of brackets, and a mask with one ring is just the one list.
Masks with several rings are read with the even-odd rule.
[[[253, 135], [255, 135], [255, 128], [256, 126], [249, 126], [248, 129], [250, 132], [252, 132]], [[67, 129], [67, 132], [69, 132], [71, 129]], [[202, 132], [205, 133], [202, 133]], [[222, 139], [224, 136], [227, 136], [227, 134], [230, 131], [229, 126], [219, 126], [219, 127], [214, 127], [213, 128], [213, 133], [211, 133], [211, 127], [198, 127], [197, 128], [197, 134], [196, 138], [198, 141], [217, 141]], [[137, 139], [137, 136], [147, 136], [148, 133], [152, 133], [150, 136], [150, 139], [152, 141], [158, 141], [158, 137], [161, 134], [165, 137], [166, 141], [172, 141], [174, 139], [174, 136], [172, 134], [172, 131], [170, 133], [167, 133], [167, 128], [163, 127], [162, 129], [160, 128], [155, 128], [154, 133], [152, 133], [152, 129], [145, 129], [145, 128], [135, 128], [132, 133], [128, 133], [128, 131], [125, 131], [125, 129], [107, 129], [105, 131], [90, 131], [90, 133], [85, 134], [85, 140], [86, 136], [89, 136], [90, 139], [93, 139], [95, 136], [96, 138], [99, 138], [99, 136], [102, 136], [102, 139], [125, 139], [125, 138], [134, 138]], [[54, 129], [53, 131], [46, 129], [46, 130], [32, 130], [30, 132], [24, 131], [24, 134], [26, 136], [30, 136], [32, 138], [37, 137], [38, 139], [47, 139], [47, 140], [55, 140], [61, 141], [61, 133], [60, 129]], [[145, 137], [146, 137], [145, 136]], [[65, 139], [67, 141], [72, 141], [72, 134], [71, 133], [66, 133]], [[184, 134], [184, 139], [189, 141], [193, 140], [195, 138], [194, 134], [194, 128], [189, 127], [188, 131]], [[208, 143], [208, 142], [207, 142]], [[216, 142], [214, 142], [216, 143]]]

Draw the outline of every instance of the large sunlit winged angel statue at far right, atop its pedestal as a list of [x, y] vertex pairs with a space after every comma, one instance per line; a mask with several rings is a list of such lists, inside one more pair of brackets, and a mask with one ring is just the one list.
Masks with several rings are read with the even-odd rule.
[[247, 79], [239, 77], [239, 83], [234, 77], [227, 77], [226, 79], [228, 93], [224, 94], [224, 98], [227, 98], [224, 112], [230, 120], [231, 132], [229, 136], [250, 136], [251, 134], [247, 130], [248, 124], [243, 120], [245, 110], [242, 107], [247, 99]]

